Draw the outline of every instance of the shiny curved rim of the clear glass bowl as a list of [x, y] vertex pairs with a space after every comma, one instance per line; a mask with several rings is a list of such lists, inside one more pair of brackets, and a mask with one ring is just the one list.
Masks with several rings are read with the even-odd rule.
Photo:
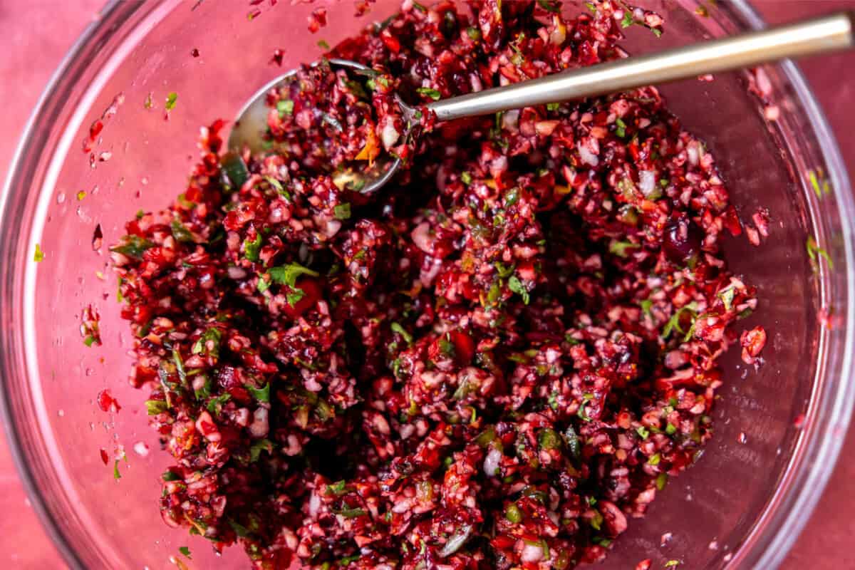
[[[81, 62], [88, 62], [97, 51], [101, 42], [96, 40], [109, 38], [117, 29], [114, 27], [116, 21], [119, 24], [127, 21], [142, 5], [143, 3], [109, 0], [101, 10], [97, 21], [93, 21], [85, 28], [52, 75], [27, 121], [15, 156], [9, 165], [3, 193], [0, 194], [0, 238], [9, 234], [9, 227], [14, 226], [12, 223], [14, 220], [20, 220], [20, 213], [12, 211], [15, 201], [11, 200], [11, 191], [15, 180], [27, 176], [28, 172], [32, 172], [32, 167], [38, 164], [38, 161], [27, 161], [27, 153], [32, 149], [38, 149], [40, 146], [38, 143], [44, 142], [50, 134], [48, 125], [50, 116], [44, 113], [44, 110], [49, 107], [52, 100], [62, 95], [62, 88], [67, 86], [64, 85], [64, 80], [68, 77], [69, 71], [78, 68]], [[763, 18], [748, 0], [732, 0], [728, 9], [738, 15], [750, 29], [757, 30], [765, 26]], [[781, 477], [781, 481], [785, 483], [778, 486], [764, 514], [752, 528], [752, 532], [734, 550], [733, 559], [728, 563], [728, 567], [775, 568], [780, 565], [796, 538], [799, 537], [799, 533], [810, 520], [810, 514], [834, 471], [849, 426], [853, 403], [855, 403], [855, 385], [847, 381], [849, 371], [852, 369], [852, 357], [855, 356], [855, 331], [853, 331], [855, 329], [855, 254], [852, 246], [852, 236], [855, 235], [855, 221], [853, 221], [855, 220], [855, 202], [852, 199], [852, 188], [846, 174], [845, 163], [840, 155], [840, 148], [804, 75], [793, 62], [788, 60], [778, 64], [778, 69], [793, 88], [795, 100], [805, 111], [813, 127], [821, 146], [820, 154], [828, 167], [828, 179], [834, 189], [834, 199], [840, 210], [840, 231], [843, 235], [843, 253], [847, 272], [845, 290], [841, 291], [846, 295], [847, 301], [846, 337], [840, 346], [842, 366], [839, 376], [827, 379], [828, 385], [824, 390], [811, 396], [812, 401], [819, 400], [830, 406], [830, 411], [822, 418], [823, 425], [814, 426], [802, 434], [794, 454], [799, 455], [800, 452], [798, 464], [796, 461], [790, 462]], [[40, 140], [37, 140], [37, 137]], [[15, 242], [17, 241], [19, 240], [16, 239]], [[3, 240], [0, 240], [0, 244], [2, 243]], [[0, 267], [8, 269], [13, 266], [4, 253], [8, 254], [9, 250], [20, 250], [20, 248], [11, 247], [3, 252], [5, 248], [5, 245], [0, 248]], [[11, 312], [9, 303], [11, 295], [8, 293], [12, 290], [11, 283], [15, 279], [13, 275], [14, 272], [8, 270], [0, 272], [0, 314], [4, 315], [3, 320], [6, 322], [9, 320], [5, 317]], [[7, 340], [5, 333], [0, 332], [0, 366], [3, 365], [4, 359], [10, 357], [6, 350], [11, 343]], [[68, 567], [82, 570], [85, 568], [84, 564], [69, 544], [61, 521], [50, 514], [48, 502], [39, 488], [32, 468], [27, 463], [26, 446], [21, 441], [19, 429], [15, 425], [15, 412], [12, 409], [9, 385], [5, 379], [0, 382], [0, 416], [2, 416], [3, 430], [9, 441], [15, 467], [32, 502], [32, 508], [38, 514], [53, 544], [62, 554]], [[814, 406], [811, 405], [811, 408]]]

